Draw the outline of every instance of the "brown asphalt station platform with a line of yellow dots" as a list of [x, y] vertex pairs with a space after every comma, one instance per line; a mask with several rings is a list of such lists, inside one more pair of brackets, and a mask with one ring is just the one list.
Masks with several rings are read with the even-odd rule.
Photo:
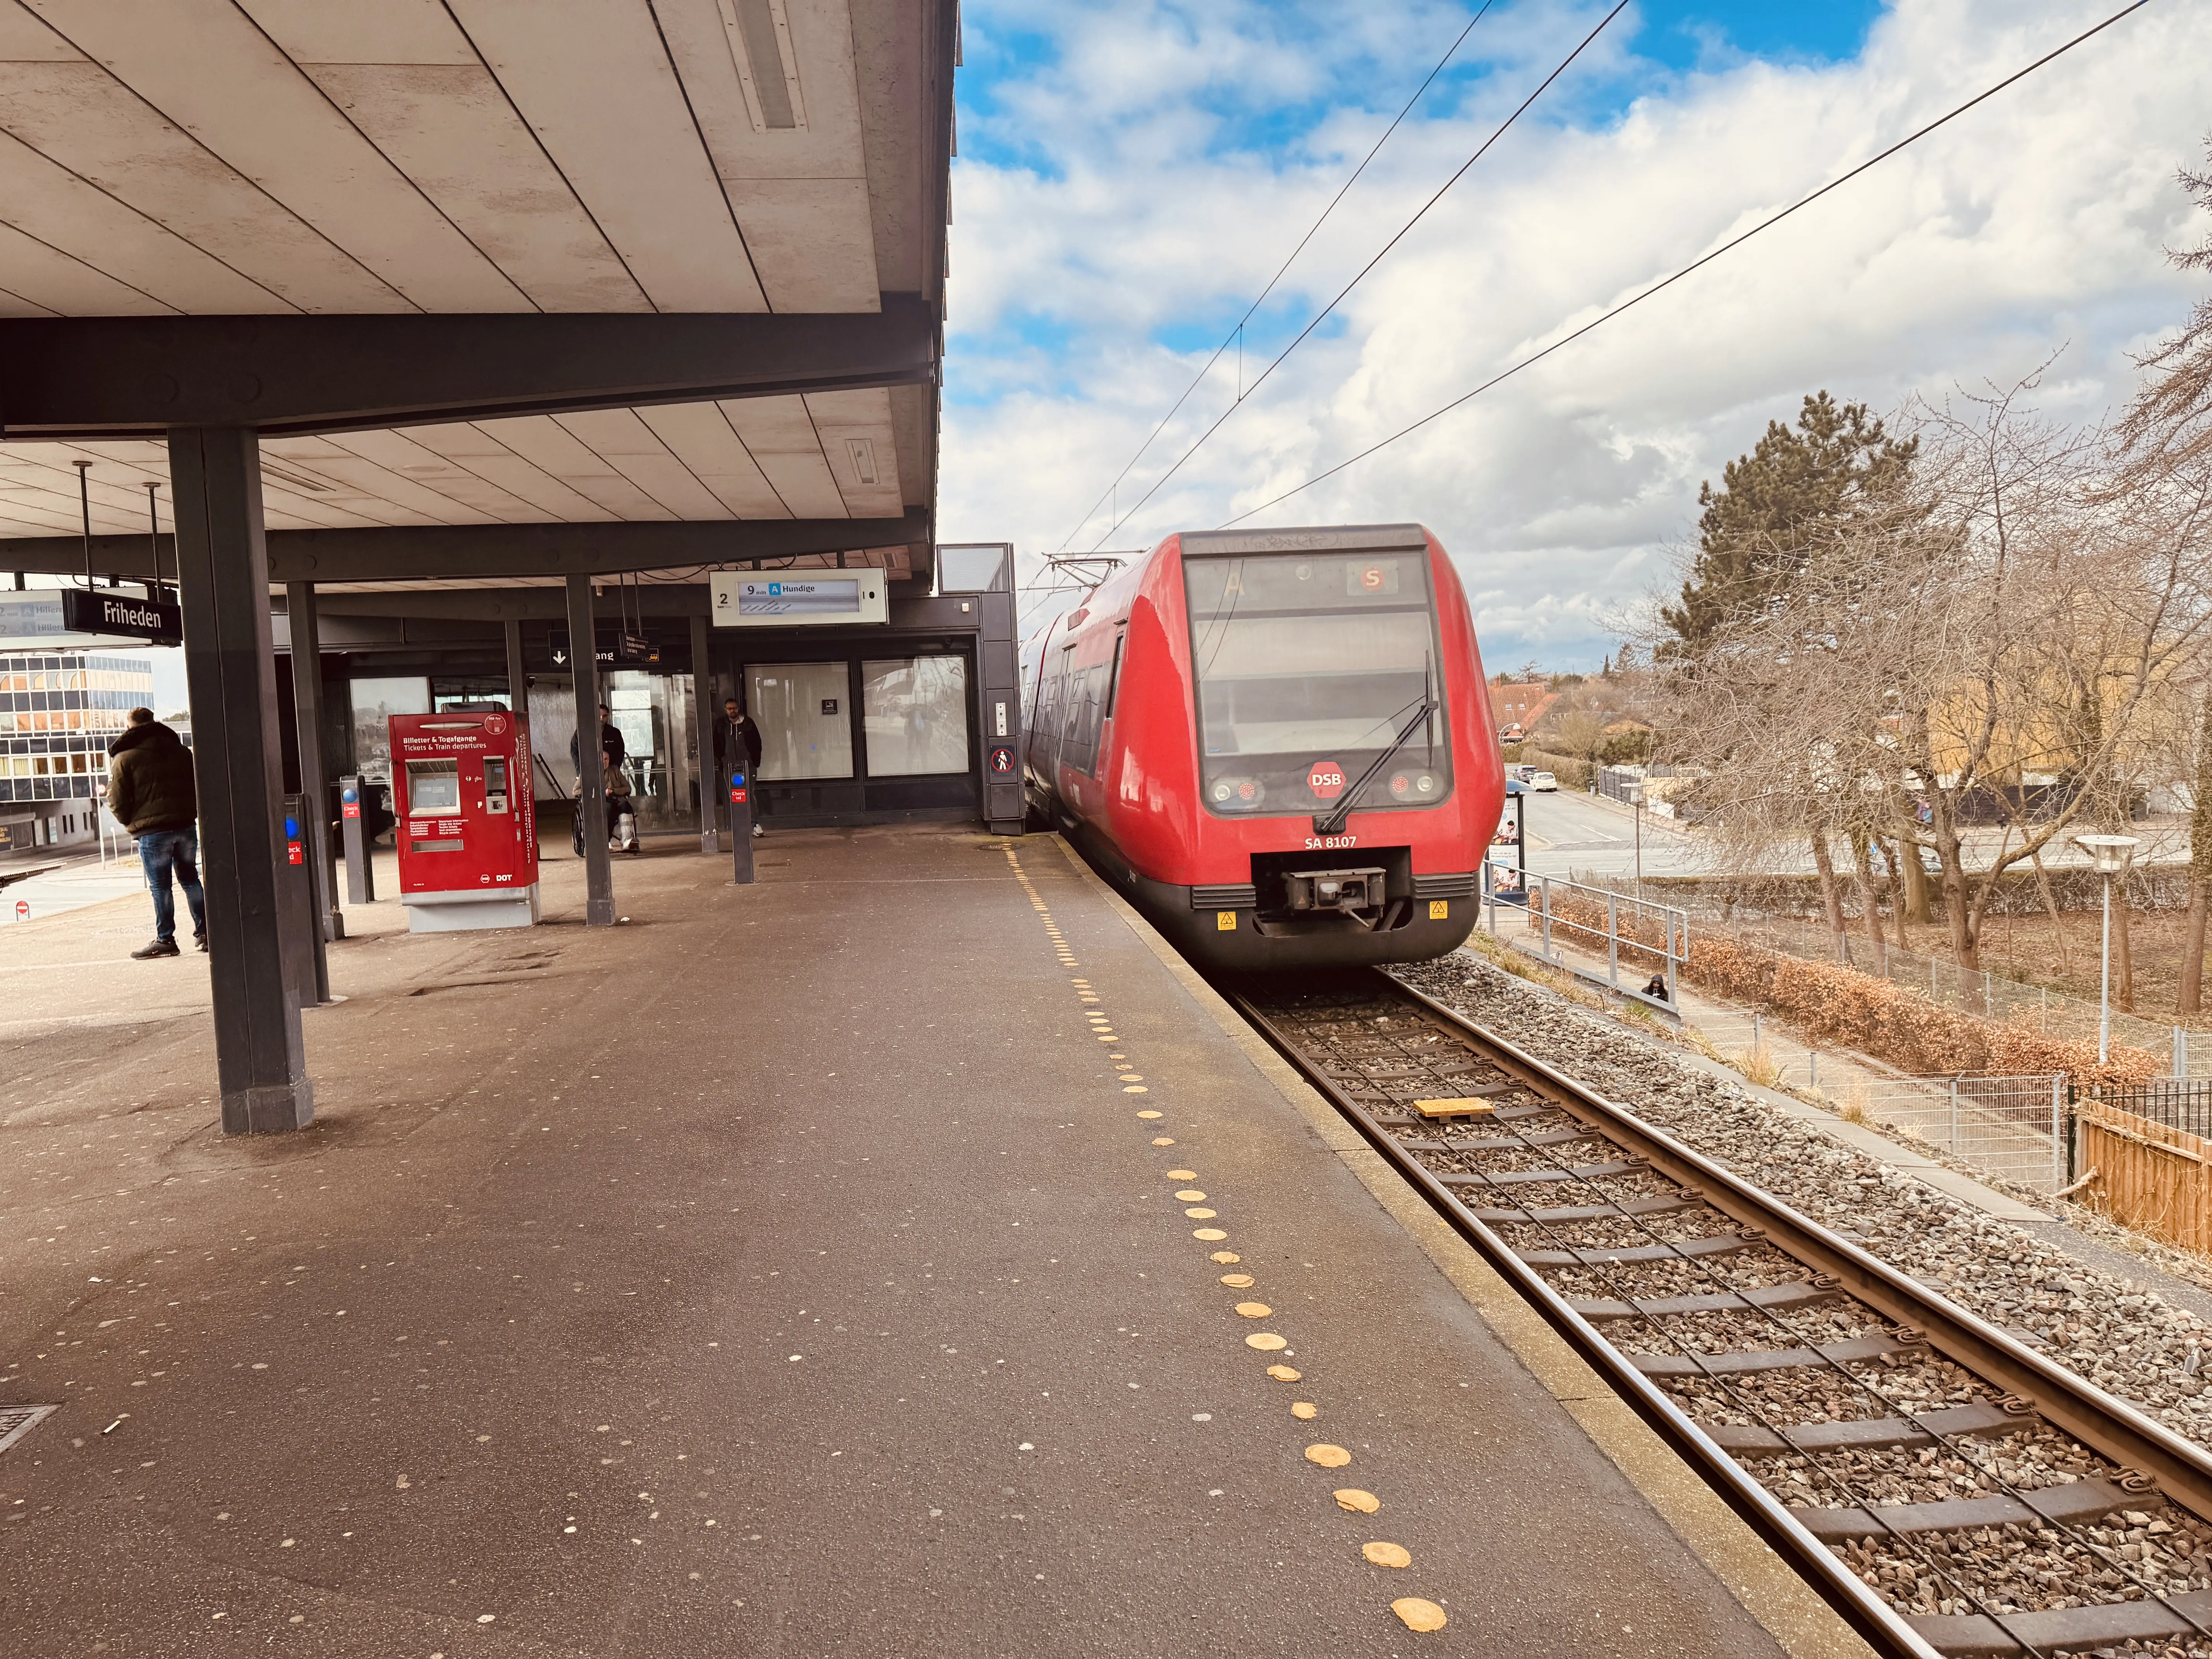
[[4, 940], [13, 1659], [1860, 1650], [1057, 841], [544, 876], [292, 1137], [142, 896]]

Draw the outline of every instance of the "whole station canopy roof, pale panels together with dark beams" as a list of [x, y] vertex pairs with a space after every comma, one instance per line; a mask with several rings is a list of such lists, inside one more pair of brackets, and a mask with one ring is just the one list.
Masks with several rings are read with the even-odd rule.
[[146, 484], [166, 531], [226, 392], [272, 580], [925, 564], [951, 51], [949, 0], [0, 0], [0, 568], [77, 568], [77, 460], [104, 553]]

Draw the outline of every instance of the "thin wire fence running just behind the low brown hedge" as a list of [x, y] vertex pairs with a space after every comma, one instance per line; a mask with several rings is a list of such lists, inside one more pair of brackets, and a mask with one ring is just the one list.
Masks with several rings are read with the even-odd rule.
[[[1584, 885], [1619, 891], [1617, 876], [1593, 876], [1575, 872]], [[1674, 894], [1670, 894], [1674, 896]], [[1834, 962], [1836, 936], [1825, 922], [1801, 916], [1774, 916], [1741, 907], [1725, 907], [1728, 916], [1714, 916], [1717, 905], [1699, 905], [1701, 925], [1714, 933], [1728, 933], [1743, 945], [1756, 945], [1805, 962]], [[1688, 909], [1686, 909], [1688, 914]], [[2068, 1042], [2097, 1042], [2097, 1004], [2053, 991], [2044, 984], [2022, 984], [1989, 969], [1971, 971], [1936, 956], [1920, 956], [1900, 945], [1885, 945], [1880, 951], [1863, 931], [1847, 931], [1843, 942], [1845, 964], [1860, 973], [1909, 984], [1929, 1002], [1962, 1013], [1991, 1020], [2026, 1018], [2048, 1037]], [[2192, 1042], [2194, 1035], [2194, 1042]], [[2112, 1046], [2146, 1048], [2154, 1055], [2172, 1055], [2174, 1077], [2212, 1077], [2212, 1033], [2190, 1033], [2185, 1026], [2157, 1024], [2132, 1013], [2112, 1011]]]

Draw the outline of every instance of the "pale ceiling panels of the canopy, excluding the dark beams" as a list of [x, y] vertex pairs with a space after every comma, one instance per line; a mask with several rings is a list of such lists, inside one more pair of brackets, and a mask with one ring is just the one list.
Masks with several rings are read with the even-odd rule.
[[[949, 2], [0, 0], [0, 319], [936, 319]], [[936, 398], [872, 376], [272, 420], [268, 526], [898, 520]], [[142, 533], [148, 482], [168, 529], [159, 440], [11, 438], [0, 540], [80, 529], [75, 460], [95, 533]]]

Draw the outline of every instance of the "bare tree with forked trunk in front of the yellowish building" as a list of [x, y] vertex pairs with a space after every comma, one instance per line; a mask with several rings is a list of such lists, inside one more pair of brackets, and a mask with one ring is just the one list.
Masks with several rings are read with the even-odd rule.
[[[1924, 411], [1924, 522], [1955, 553], [1940, 580], [1896, 595], [1920, 604], [1896, 611], [1902, 770], [1885, 787], [1927, 805], [1909, 845], [1942, 867], [1969, 971], [2000, 878], [2126, 814], [2146, 712], [2208, 630], [2212, 469], [2117, 489], [2099, 434], [2022, 409], [2033, 385]], [[2037, 799], [2037, 774], [2070, 787]], [[1969, 814], [2002, 832], [1971, 867]]]

